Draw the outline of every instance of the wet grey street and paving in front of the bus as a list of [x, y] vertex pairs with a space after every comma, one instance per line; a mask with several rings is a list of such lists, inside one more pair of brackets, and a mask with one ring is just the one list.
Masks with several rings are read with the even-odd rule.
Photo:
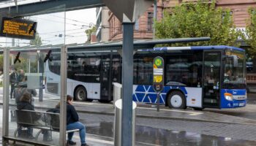
[[[253, 95], [249, 103], [255, 99]], [[45, 98], [39, 102], [36, 98], [35, 107], [45, 111], [58, 102], [54, 98]], [[74, 104], [81, 122], [86, 123], [89, 145], [113, 145], [113, 104], [100, 104], [97, 101]], [[14, 101], [10, 101], [10, 110], [15, 110]], [[231, 110], [203, 111], [190, 108], [172, 110], [161, 106], [160, 112], [157, 112], [154, 105], [138, 104], [136, 145], [256, 145], [255, 111], [255, 104]], [[12, 129], [16, 127], [14, 119], [10, 119]], [[79, 142], [78, 134], [74, 138]]]

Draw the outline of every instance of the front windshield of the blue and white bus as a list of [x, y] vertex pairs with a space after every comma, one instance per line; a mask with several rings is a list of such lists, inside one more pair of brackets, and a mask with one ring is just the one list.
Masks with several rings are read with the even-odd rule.
[[223, 85], [233, 88], [245, 84], [244, 53], [227, 51], [224, 66]]

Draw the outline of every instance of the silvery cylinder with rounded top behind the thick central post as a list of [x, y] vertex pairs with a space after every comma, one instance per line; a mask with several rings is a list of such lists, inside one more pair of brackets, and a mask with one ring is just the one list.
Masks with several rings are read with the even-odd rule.
[[[115, 102], [115, 123], [114, 123], [114, 145], [121, 146], [121, 110], [122, 110], [122, 99], [118, 99]], [[135, 145], [135, 117], [136, 117], [135, 101], [132, 101], [132, 146]]]

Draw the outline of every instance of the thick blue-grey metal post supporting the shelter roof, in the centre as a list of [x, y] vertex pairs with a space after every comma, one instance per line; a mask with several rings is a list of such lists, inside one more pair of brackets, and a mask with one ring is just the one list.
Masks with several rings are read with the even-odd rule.
[[132, 145], [133, 26], [123, 23], [121, 145]]

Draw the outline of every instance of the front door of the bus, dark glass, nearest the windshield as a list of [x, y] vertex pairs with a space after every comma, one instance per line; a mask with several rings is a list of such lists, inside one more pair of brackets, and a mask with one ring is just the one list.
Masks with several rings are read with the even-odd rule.
[[219, 108], [221, 52], [203, 53], [203, 107]]

